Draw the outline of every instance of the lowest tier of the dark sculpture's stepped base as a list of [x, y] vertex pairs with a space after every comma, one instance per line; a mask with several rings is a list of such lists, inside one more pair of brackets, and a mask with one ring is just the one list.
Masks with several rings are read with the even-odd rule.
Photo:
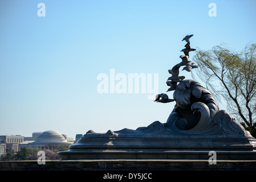
[[[208, 160], [210, 150], [68, 150], [58, 152], [59, 159], [188, 159]], [[256, 151], [214, 150], [219, 160], [256, 160]]]

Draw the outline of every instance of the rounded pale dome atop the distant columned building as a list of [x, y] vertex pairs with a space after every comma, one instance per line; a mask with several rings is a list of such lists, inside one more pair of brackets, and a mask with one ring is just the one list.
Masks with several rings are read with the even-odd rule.
[[67, 139], [63, 137], [58, 131], [48, 130], [35, 139], [34, 143], [66, 143]]

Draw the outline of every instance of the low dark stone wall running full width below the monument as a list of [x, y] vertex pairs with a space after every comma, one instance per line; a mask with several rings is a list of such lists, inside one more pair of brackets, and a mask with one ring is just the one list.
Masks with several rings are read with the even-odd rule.
[[37, 160], [0, 162], [0, 171], [256, 171], [256, 160]]

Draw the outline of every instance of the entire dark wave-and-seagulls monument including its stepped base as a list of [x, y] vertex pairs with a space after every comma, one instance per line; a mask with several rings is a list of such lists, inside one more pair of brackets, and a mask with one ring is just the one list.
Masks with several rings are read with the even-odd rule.
[[[155, 121], [136, 130], [90, 130], [68, 151], [58, 154], [61, 159], [208, 159], [216, 151], [219, 159], [256, 159], [255, 139], [235, 118], [221, 110], [212, 94], [195, 80], [184, 80], [179, 69], [198, 68], [189, 61], [190, 38], [186, 35], [185, 55], [169, 69], [166, 81], [173, 98], [157, 94], [156, 102], [176, 102], [166, 123]], [[136, 118], [135, 118], [136, 119]]]

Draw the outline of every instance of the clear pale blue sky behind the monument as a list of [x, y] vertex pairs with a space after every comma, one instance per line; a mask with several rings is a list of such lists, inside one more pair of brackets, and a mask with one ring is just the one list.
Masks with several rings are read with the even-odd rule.
[[[208, 15], [209, 3], [217, 16]], [[226, 43], [241, 51], [256, 41], [255, 7], [253, 0], [1, 0], [0, 135], [56, 130], [75, 138], [165, 123], [174, 103], [155, 103], [147, 93], [99, 94], [97, 76], [157, 73], [166, 93], [185, 35], [194, 34], [193, 48]]]

